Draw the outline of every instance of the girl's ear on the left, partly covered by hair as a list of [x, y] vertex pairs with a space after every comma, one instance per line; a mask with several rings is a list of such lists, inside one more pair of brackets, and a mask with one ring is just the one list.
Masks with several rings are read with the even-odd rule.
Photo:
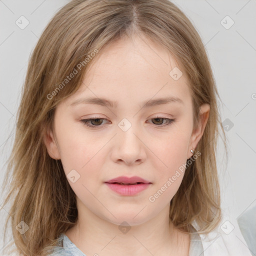
[[45, 127], [43, 131], [43, 142], [47, 148], [49, 156], [53, 159], [60, 159], [59, 149], [56, 143], [53, 131], [49, 127]]

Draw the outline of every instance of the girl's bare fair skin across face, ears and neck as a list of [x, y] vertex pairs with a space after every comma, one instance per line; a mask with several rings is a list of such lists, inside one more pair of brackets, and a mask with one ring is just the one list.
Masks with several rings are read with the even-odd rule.
[[[188, 255], [189, 235], [169, 223], [169, 202], [184, 173], [150, 202], [179, 166], [192, 156], [206, 125], [209, 105], [200, 107], [200, 124], [193, 130], [192, 98], [183, 75], [174, 80], [170, 70], [178, 63], [161, 46], [145, 37], [119, 40], [104, 49], [84, 76], [79, 90], [55, 110], [53, 130], [44, 142], [48, 154], [61, 159], [68, 182], [76, 194], [78, 221], [65, 233], [88, 255]], [[96, 104], [70, 104], [81, 97], [96, 96], [117, 101], [116, 108]], [[176, 96], [183, 103], [142, 107], [142, 102]], [[174, 118], [169, 125], [156, 116]], [[87, 127], [79, 121], [92, 120]], [[118, 123], [126, 118], [131, 127]], [[99, 126], [96, 126], [99, 125]], [[158, 126], [157, 126], [158, 125]], [[198, 156], [199, 157], [199, 156]], [[152, 182], [133, 196], [122, 196], [104, 184], [117, 176], [140, 176]], [[123, 233], [118, 227], [126, 221]]]

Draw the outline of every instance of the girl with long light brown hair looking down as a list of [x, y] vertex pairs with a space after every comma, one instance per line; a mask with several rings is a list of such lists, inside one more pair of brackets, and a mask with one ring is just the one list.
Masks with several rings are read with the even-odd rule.
[[18, 109], [4, 201], [17, 251], [250, 255], [219, 228], [229, 223], [217, 96], [202, 41], [170, 1], [63, 6], [33, 50]]

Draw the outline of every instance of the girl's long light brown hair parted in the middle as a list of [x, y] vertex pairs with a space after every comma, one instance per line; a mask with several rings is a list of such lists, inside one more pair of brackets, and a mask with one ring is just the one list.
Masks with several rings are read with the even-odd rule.
[[[200, 105], [210, 105], [208, 121], [195, 148], [200, 156], [186, 165], [170, 201], [169, 220], [188, 233], [193, 221], [200, 233], [208, 233], [219, 224], [222, 212], [215, 158], [218, 124], [225, 151], [226, 138], [211, 66], [191, 21], [169, 0], [72, 0], [51, 18], [29, 56], [17, 111], [15, 139], [3, 183], [8, 194], [3, 205], [11, 202], [4, 235], [11, 217], [13, 242], [20, 253], [47, 255], [59, 235], [76, 223], [75, 193], [60, 159], [48, 155], [43, 134], [52, 128], [56, 106], [77, 91], [85, 71], [103, 48], [132, 35], [158, 43], [177, 60], [189, 81], [194, 128], [199, 123]], [[74, 70], [77, 73], [67, 79]], [[16, 229], [20, 221], [29, 227], [23, 234]]]

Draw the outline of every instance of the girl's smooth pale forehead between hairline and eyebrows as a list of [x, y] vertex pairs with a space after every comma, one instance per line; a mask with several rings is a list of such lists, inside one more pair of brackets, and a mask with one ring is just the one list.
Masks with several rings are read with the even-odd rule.
[[[98, 96], [140, 102], [153, 97], [175, 96], [189, 100], [184, 70], [161, 45], [146, 38], [130, 37], [107, 45], [100, 53], [92, 60], [72, 99]], [[173, 79], [170, 75], [173, 70], [182, 75]]]

